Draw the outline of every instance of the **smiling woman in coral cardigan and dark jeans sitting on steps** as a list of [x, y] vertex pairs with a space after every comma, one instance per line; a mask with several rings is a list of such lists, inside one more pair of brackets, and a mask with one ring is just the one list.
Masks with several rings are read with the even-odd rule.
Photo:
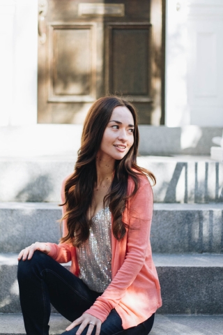
[[[26, 334], [49, 334], [50, 302], [72, 322], [63, 334], [151, 331], [162, 304], [149, 241], [155, 177], [137, 166], [138, 143], [132, 104], [116, 96], [93, 104], [63, 181], [61, 243], [36, 242], [18, 256]], [[59, 264], [70, 260], [70, 271]]]

